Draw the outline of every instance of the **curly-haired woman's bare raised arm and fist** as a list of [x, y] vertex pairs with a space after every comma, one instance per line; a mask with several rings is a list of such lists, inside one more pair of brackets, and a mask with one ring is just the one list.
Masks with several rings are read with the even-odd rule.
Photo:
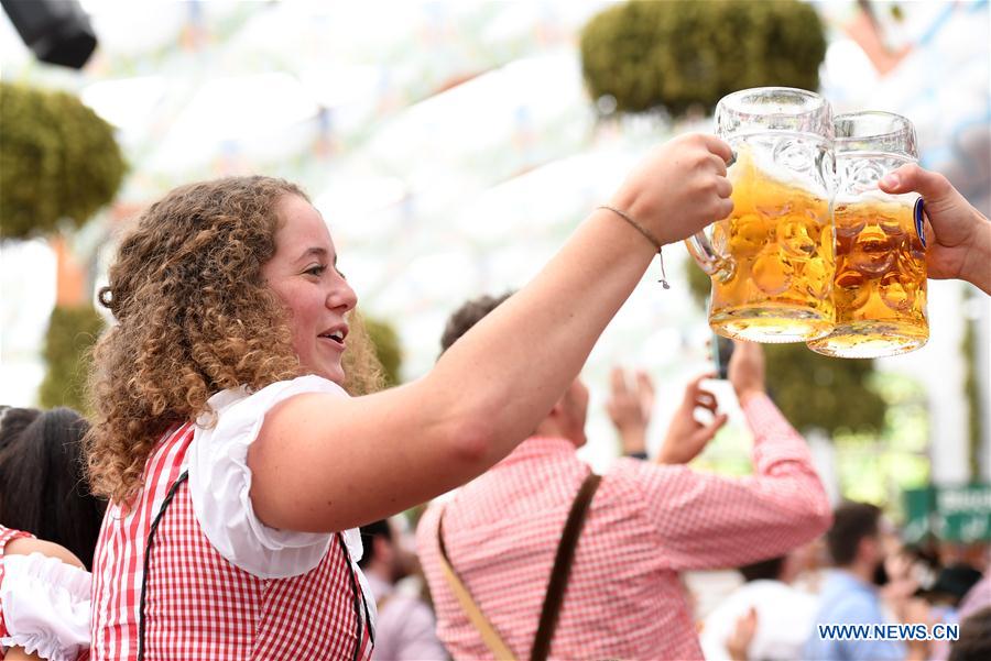
[[[663, 244], [685, 239], [732, 209], [729, 158], [716, 137], [675, 139], [611, 205]], [[255, 514], [273, 528], [342, 530], [481, 474], [579, 373], [654, 253], [619, 214], [596, 210], [423, 378], [353, 399], [308, 394], [276, 405], [248, 454]]]

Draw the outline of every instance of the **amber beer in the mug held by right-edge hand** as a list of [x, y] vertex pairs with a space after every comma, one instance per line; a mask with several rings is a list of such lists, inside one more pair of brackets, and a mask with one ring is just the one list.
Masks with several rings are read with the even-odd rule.
[[809, 349], [875, 357], [925, 344], [926, 253], [912, 207], [894, 200], [839, 203], [835, 220], [837, 324]]

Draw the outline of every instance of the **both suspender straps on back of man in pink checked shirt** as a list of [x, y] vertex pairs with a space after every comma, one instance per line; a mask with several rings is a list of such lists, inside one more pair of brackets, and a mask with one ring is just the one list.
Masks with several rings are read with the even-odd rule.
[[[574, 503], [571, 503], [568, 519], [560, 535], [560, 542], [557, 546], [557, 554], [554, 558], [554, 568], [551, 570], [551, 580], [547, 582], [547, 592], [544, 595], [544, 605], [541, 609], [541, 620], [531, 648], [531, 661], [544, 661], [551, 652], [551, 641], [554, 640], [557, 616], [560, 613], [564, 592], [568, 585], [571, 561], [575, 559], [575, 548], [578, 546], [578, 538], [581, 535], [581, 528], [588, 515], [588, 507], [591, 504], [596, 489], [599, 487], [600, 481], [601, 476], [589, 473], [585, 482], [581, 483], [581, 488], [578, 489], [578, 495], [575, 497]], [[481, 636], [482, 642], [486, 643], [486, 647], [489, 648], [489, 651], [497, 659], [515, 659], [512, 650], [475, 603], [471, 593], [468, 592], [468, 588], [450, 565], [450, 560], [447, 558], [447, 549], [444, 546], [443, 511], [437, 525], [437, 541], [439, 542], [440, 569], [444, 576], [461, 605], [461, 609]]]

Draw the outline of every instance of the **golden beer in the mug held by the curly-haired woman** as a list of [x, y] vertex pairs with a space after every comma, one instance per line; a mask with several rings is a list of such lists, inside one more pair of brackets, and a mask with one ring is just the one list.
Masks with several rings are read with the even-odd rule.
[[732, 175], [732, 214], [711, 233], [731, 261], [712, 276], [709, 326], [759, 342], [825, 335], [835, 320], [828, 200], [770, 178], [747, 151]]

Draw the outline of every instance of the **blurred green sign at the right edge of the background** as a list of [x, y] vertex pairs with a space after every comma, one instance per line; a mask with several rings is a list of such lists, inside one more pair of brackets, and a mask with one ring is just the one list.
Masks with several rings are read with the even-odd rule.
[[991, 541], [991, 484], [905, 489], [904, 536], [933, 533], [956, 542]]

